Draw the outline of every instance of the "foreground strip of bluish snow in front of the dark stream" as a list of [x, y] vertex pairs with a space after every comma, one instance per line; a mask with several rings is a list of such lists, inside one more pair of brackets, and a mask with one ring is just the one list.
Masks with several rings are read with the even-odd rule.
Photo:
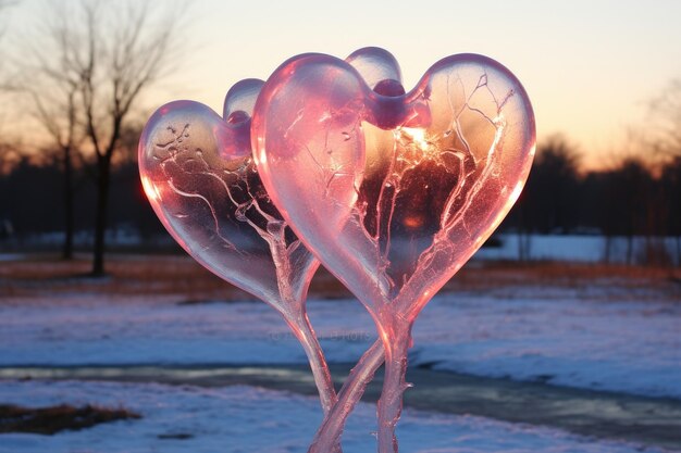
[[[0, 401], [124, 404], [139, 420], [55, 436], [0, 435], [1, 453], [300, 453], [320, 423], [318, 401], [250, 387], [199, 389], [108, 382], [0, 382]], [[345, 453], [375, 450], [375, 408], [360, 404], [344, 435]], [[560, 430], [407, 408], [398, 426], [411, 453], [656, 453], [664, 450], [595, 441]], [[184, 438], [184, 439], [178, 439]]]

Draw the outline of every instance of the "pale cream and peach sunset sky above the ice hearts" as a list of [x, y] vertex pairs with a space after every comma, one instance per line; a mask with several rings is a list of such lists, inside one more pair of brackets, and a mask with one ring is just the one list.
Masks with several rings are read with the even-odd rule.
[[[10, 34], [35, 27], [41, 5], [22, 0], [11, 8]], [[540, 143], [564, 134], [593, 167], [607, 164], [627, 129], [644, 126], [649, 100], [681, 78], [674, 0], [195, 0], [187, 14], [178, 29], [187, 37], [181, 70], [147, 97], [150, 108], [194, 99], [220, 112], [234, 83], [265, 79], [310, 51], [345, 58], [383, 47], [400, 62], [407, 89], [443, 56], [483, 53], [524, 85]]]

